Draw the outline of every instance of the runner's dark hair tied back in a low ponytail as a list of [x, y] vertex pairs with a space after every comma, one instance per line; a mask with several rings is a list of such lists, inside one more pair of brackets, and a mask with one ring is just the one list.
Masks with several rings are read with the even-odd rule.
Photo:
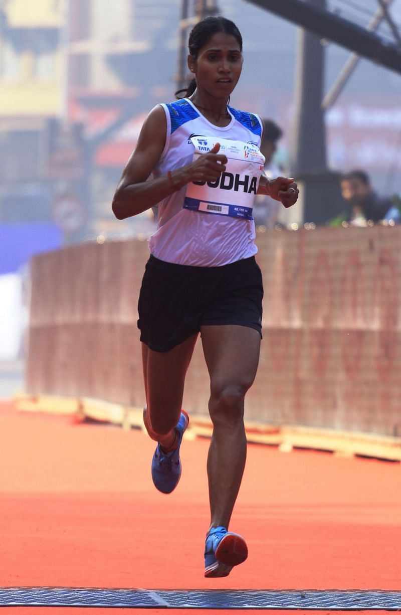
[[[203, 20], [197, 23], [197, 25], [193, 26], [192, 30], [189, 33], [188, 39], [188, 49], [190, 55], [192, 55], [193, 59], [196, 60], [198, 54], [202, 47], [206, 45], [209, 39], [212, 38], [213, 34], [217, 32], [223, 32], [224, 34], [230, 34], [234, 36], [236, 41], [238, 42], [239, 49], [243, 50], [243, 38], [241, 33], [239, 32], [237, 26], [230, 19], [222, 17], [218, 15], [217, 17], [205, 17]], [[197, 80], [195, 78], [191, 79], [186, 88], [182, 90], [177, 90], [176, 96], [181, 92], [185, 92], [184, 98], [189, 97], [195, 90], [197, 89]]]

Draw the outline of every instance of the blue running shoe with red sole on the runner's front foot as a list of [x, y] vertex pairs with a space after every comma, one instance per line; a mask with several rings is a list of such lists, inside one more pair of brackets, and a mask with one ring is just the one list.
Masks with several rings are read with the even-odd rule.
[[211, 528], [204, 547], [204, 576], [228, 576], [233, 566], [248, 557], [246, 542], [239, 534], [228, 532], [222, 525]]

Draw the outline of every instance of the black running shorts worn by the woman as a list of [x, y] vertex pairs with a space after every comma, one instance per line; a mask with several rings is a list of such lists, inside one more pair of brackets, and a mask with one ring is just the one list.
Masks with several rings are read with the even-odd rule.
[[262, 336], [262, 298], [254, 256], [221, 267], [192, 267], [151, 255], [139, 293], [141, 341], [168, 352], [203, 325], [243, 325]]

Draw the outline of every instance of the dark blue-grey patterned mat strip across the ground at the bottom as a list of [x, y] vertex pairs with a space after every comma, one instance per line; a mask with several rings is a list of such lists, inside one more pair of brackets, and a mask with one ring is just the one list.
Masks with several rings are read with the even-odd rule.
[[401, 611], [401, 592], [323, 590], [147, 590], [2, 587], [1, 606], [164, 609]]

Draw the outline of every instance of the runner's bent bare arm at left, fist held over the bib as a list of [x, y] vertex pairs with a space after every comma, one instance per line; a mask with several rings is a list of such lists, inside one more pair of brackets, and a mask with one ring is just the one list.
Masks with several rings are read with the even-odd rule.
[[119, 220], [130, 218], [157, 205], [190, 181], [214, 181], [225, 171], [227, 158], [217, 154], [220, 146], [216, 144], [196, 162], [172, 170], [170, 177], [162, 175], [147, 181], [165, 148], [166, 128], [165, 111], [158, 105], [147, 116], [136, 148], [115, 191], [112, 210]]

